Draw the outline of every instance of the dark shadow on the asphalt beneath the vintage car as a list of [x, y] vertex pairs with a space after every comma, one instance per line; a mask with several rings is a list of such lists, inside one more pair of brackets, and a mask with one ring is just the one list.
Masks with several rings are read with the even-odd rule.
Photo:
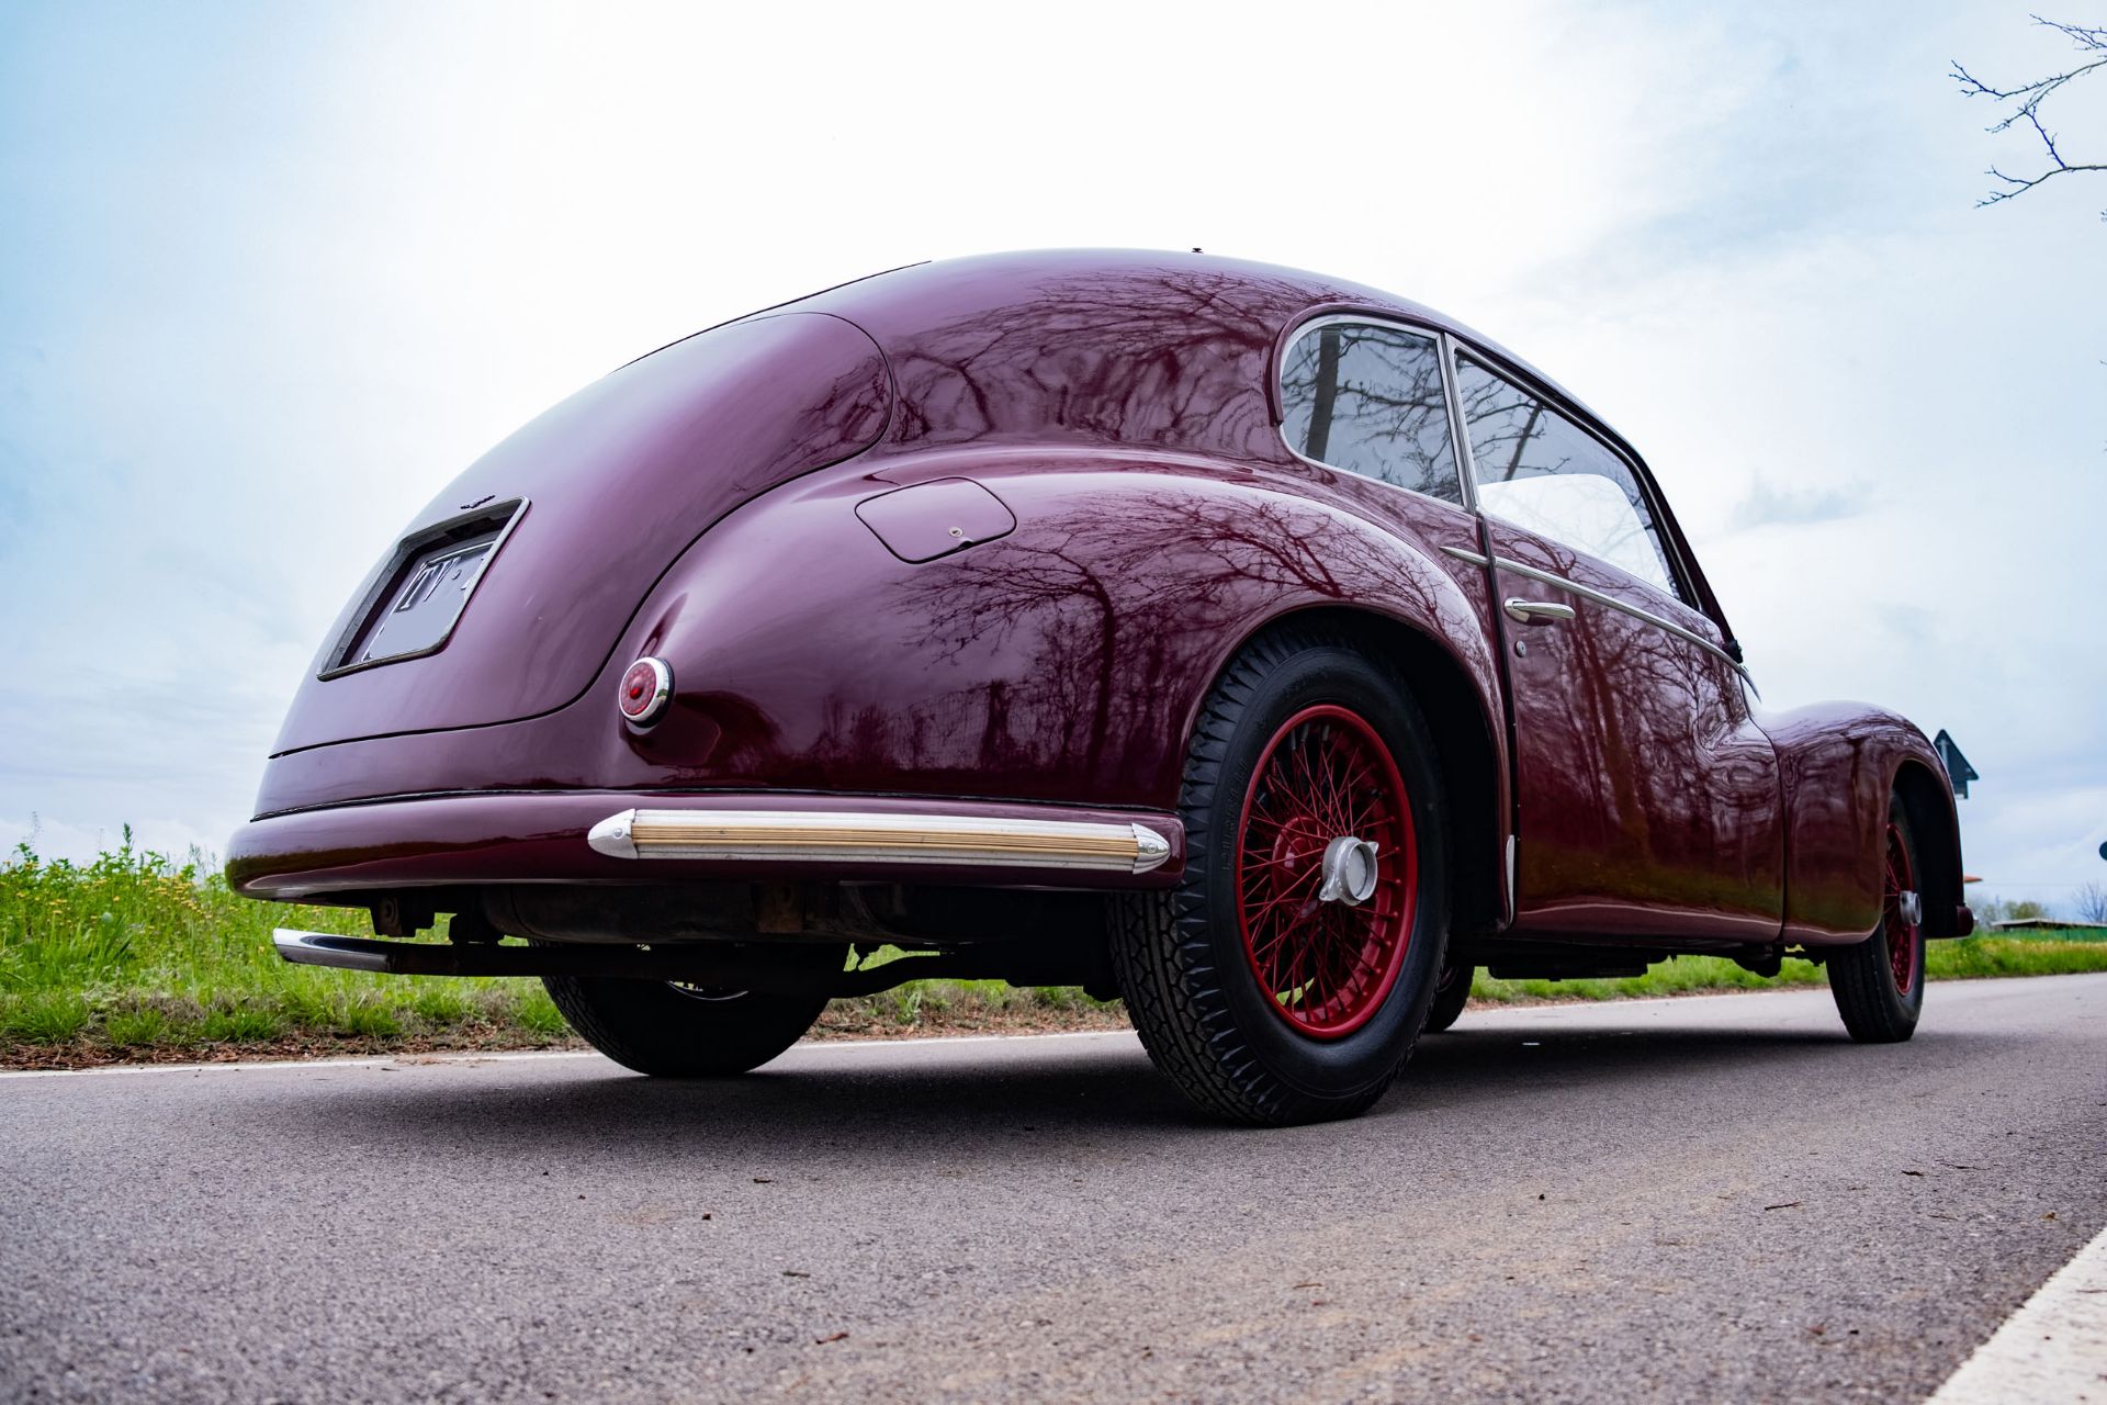
[[[1936, 1081], [1976, 1057], [1987, 1034], [1930, 1034], [1860, 1047], [1842, 1030], [1639, 1028], [1576, 1030], [1502, 1024], [1420, 1043], [1397, 1087], [1351, 1135], [1395, 1135], [1414, 1119], [1479, 1114], [1557, 1119], [1574, 1097], [1656, 1104], [1717, 1102], [1728, 1087], [1865, 1087], [1896, 1076]], [[944, 1049], [942, 1055], [936, 1049]], [[428, 1072], [436, 1079], [426, 1079]], [[280, 1108], [289, 1112], [289, 1108]], [[1195, 1114], [1127, 1036], [988, 1041], [948, 1047], [818, 1047], [742, 1079], [659, 1081], [598, 1060], [409, 1066], [339, 1081], [295, 1110], [312, 1135], [396, 1146], [472, 1144], [478, 1154], [590, 1161], [666, 1156], [799, 1159], [898, 1169], [902, 1163], [1051, 1159], [1077, 1148], [1178, 1150], [1218, 1137], [1338, 1137], [1340, 1129], [1249, 1131]]]

